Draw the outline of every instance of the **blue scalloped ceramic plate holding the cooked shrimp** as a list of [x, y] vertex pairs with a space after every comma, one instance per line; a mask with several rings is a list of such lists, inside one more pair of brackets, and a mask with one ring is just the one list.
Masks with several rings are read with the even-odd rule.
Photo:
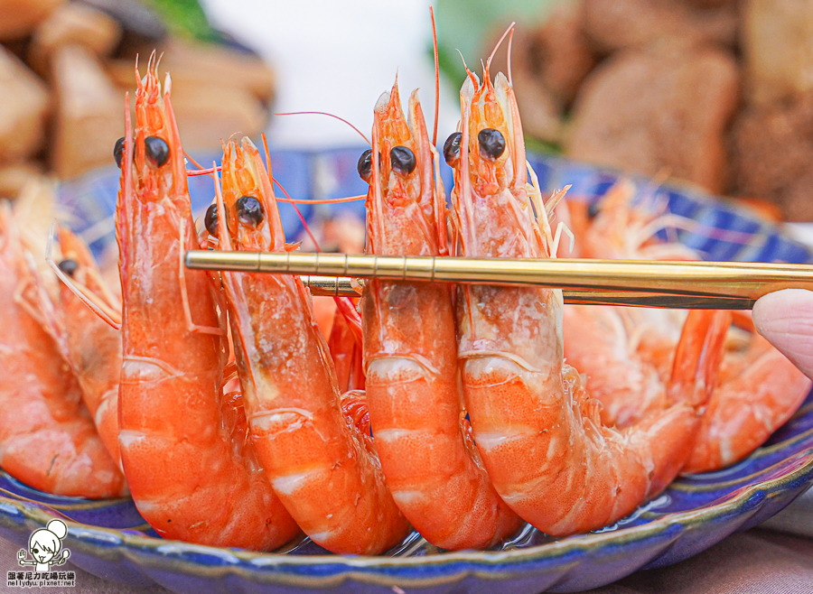
[[[277, 178], [297, 197], [348, 196], [364, 190], [355, 175], [359, 150], [285, 153], [274, 158]], [[210, 162], [211, 160], [209, 160]], [[574, 185], [593, 200], [617, 179], [612, 172], [561, 160], [533, 162], [543, 187]], [[447, 179], [448, 179], [448, 172]], [[209, 182], [210, 183], [210, 182]], [[451, 184], [447, 183], [447, 187]], [[651, 190], [651, 189], [650, 189]], [[208, 204], [205, 180], [192, 183], [197, 207]], [[66, 185], [61, 200], [79, 231], [104, 254], [105, 222], [117, 193], [117, 170]], [[771, 224], [691, 188], [656, 191], [668, 208], [706, 229], [679, 239], [710, 259], [811, 262], [803, 246]], [[312, 221], [336, 208], [304, 209]], [[361, 207], [350, 207], [360, 214]], [[283, 213], [288, 237], [301, 231], [293, 211]], [[709, 229], [724, 231], [709, 234]], [[715, 238], [709, 238], [714, 236]], [[590, 589], [641, 568], [679, 562], [776, 514], [813, 483], [813, 398], [751, 457], [719, 472], [681, 478], [664, 494], [601, 531], [551, 539], [527, 529], [488, 552], [439, 552], [413, 534], [380, 557], [326, 554], [305, 540], [285, 554], [254, 553], [164, 541], [154, 536], [129, 499], [91, 502], [33, 491], [0, 473], [0, 535], [23, 547], [53, 517], [70, 520], [64, 545], [70, 562], [107, 580], [153, 584], [177, 592], [511, 592]]]

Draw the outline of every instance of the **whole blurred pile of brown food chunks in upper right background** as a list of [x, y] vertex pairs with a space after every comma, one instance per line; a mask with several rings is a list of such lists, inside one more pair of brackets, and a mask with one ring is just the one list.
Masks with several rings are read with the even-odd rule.
[[565, 0], [514, 41], [525, 129], [566, 156], [813, 220], [813, 0]]

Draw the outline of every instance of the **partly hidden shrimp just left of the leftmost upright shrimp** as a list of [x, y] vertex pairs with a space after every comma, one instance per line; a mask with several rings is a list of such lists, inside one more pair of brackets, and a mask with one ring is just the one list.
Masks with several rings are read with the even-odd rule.
[[[88, 246], [67, 227], [60, 227], [59, 238], [61, 274], [89, 293], [89, 298], [101, 302], [107, 311], [120, 316], [121, 303], [107, 290]], [[118, 450], [121, 331], [90, 309], [66, 283], [60, 287], [57, 311], [60, 313], [60, 329], [65, 334], [64, 356], [79, 380], [82, 399], [96, 423], [99, 437], [121, 468]]]

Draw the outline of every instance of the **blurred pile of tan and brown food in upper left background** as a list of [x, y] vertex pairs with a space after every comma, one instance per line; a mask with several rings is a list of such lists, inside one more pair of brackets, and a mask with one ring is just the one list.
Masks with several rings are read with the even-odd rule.
[[[220, 39], [209, 29], [212, 38]], [[175, 113], [192, 151], [216, 148], [236, 130], [258, 135], [274, 97], [274, 73], [256, 55], [168, 34], [136, 0], [0, 0], [0, 42], [3, 197], [44, 173], [70, 179], [113, 166], [136, 53], [157, 51], [162, 76], [172, 73]]]

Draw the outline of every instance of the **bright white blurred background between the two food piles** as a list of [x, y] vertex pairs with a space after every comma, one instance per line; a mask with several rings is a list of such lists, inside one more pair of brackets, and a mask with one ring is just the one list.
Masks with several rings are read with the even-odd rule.
[[[429, 3], [416, 0], [202, 0], [210, 22], [257, 51], [276, 71], [276, 113], [325, 111], [369, 137], [372, 111], [398, 76], [406, 101], [420, 88], [431, 131], [435, 70]], [[462, 83], [463, 81], [461, 81]], [[441, 81], [444, 84], [444, 81]], [[441, 91], [438, 141], [456, 128], [456, 93]], [[363, 144], [349, 126], [325, 116], [272, 117], [276, 147]]]

